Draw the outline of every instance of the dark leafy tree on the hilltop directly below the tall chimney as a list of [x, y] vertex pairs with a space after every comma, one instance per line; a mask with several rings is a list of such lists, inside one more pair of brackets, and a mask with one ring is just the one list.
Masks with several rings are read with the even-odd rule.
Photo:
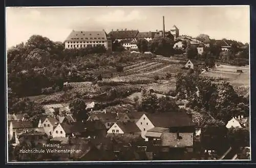
[[173, 40], [169, 38], [157, 37], [152, 41], [150, 50], [152, 53], [169, 57], [174, 52], [173, 46]]

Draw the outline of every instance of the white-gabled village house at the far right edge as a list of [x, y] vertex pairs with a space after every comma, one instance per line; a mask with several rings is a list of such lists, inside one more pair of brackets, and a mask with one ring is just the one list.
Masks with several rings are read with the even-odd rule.
[[228, 121], [226, 128], [247, 128], [249, 130], [249, 119], [248, 117], [244, 117], [243, 115], [233, 117], [231, 120]]

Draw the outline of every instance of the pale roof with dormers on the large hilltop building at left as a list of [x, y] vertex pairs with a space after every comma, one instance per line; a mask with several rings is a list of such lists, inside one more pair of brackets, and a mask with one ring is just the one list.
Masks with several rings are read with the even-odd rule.
[[[92, 38], [92, 39], [90, 39]], [[96, 39], [94, 39], [96, 38]], [[100, 38], [100, 39], [98, 39]], [[65, 41], [107, 40], [105, 31], [72, 31]]]

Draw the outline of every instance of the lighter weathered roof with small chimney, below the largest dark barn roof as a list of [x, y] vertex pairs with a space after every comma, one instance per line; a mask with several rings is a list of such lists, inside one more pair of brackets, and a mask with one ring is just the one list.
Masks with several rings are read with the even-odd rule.
[[161, 136], [161, 145], [168, 147], [193, 147], [193, 133], [182, 133], [177, 140], [177, 133], [164, 132]]

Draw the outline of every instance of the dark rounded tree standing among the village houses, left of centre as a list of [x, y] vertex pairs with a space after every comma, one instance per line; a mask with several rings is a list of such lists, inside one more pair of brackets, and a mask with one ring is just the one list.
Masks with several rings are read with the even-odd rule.
[[76, 98], [74, 99], [70, 105], [70, 112], [71, 114], [76, 118], [77, 121], [84, 121], [87, 120], [88, 114], [86, 110], [86, 103], [80, 99]]

